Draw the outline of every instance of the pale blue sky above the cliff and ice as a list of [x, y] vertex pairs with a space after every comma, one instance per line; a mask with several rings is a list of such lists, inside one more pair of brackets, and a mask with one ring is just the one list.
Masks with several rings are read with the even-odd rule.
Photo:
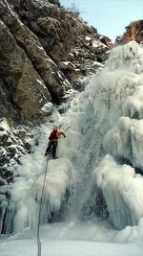
[[60, 0], [65, 8], [74, 4], [81, 17], [101, 35], [114, 41], [131, 21], [143, 19], [143, 0]]

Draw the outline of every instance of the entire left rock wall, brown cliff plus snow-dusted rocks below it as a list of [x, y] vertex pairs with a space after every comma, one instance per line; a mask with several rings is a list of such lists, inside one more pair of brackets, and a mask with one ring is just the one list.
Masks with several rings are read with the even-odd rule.
[[47, 0], [0, 1], [0, 232], [16, 166], [38, 146], [32, 123], [72, 88], [82, 90], [111, 47], [108, 37]]

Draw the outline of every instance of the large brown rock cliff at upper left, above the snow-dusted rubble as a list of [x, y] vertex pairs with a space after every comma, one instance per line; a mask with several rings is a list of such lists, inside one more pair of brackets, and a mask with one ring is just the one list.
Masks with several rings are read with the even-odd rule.
[[0, 117], [37, 120], [111, 48], [72, 12], [38, 0], [0, 2]]

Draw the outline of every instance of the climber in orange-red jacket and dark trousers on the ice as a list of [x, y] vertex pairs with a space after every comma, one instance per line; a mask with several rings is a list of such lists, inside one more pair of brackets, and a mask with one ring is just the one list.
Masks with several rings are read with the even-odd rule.
[[45, 152], [45, 155], [47, 155], [50, 151], [52, 154], [52, 158], [56, 158], [56, 149], [57, 149], [57, 145], [58, 145], [58, 138], [60, 135], [63, 135], [64, 138], [66, 138], [66, 134], [61, 131], [60, 129], [54, 127], [51, 131], [51, 135], [49, 137], [49, 144], [48, 144], [48, 148]]

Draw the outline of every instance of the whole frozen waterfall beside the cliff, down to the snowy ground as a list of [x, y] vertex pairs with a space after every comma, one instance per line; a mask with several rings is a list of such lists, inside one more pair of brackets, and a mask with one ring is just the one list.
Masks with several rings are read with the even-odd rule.
[[[114, 48], [68, 112], [54, 115], [56, 125], [69, 129], [59, 158], [49, 161], [41, 223], [59, 215], [66, 221], [98, 215], [117, 229], [137, 225], [143, 215], [143, 177], [136, 174], [143, 173], [143, 49], [133, 41]], [[8, 232], [36, 227], [51, 128], [49, 122], [39, 128], [38, 150], [17, 168]]]

